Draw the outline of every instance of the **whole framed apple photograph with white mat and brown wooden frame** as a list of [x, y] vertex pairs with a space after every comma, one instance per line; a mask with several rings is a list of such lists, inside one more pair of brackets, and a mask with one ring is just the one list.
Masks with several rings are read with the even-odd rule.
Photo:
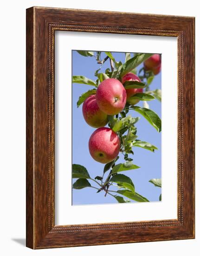
[[194, 238], [194, 17], [26, 10], [26, 246]]

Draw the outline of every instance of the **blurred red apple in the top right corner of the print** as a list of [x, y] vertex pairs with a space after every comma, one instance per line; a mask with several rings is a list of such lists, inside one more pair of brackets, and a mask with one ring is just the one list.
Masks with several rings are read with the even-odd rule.
[[151, 70], [154, 74], [158, 74], [161, 71], [161, 55], [153, 54], [150, 58], [144, 61], [145, 70]]

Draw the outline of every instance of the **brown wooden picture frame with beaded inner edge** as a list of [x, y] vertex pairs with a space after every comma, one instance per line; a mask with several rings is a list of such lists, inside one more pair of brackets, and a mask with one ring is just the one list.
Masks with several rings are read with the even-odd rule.
[[[178, 39], [178, 218], [55, 226], [55, 30]], [[32, 249], [194, 238], [194, 17], [26, 10], [26, 246]]]

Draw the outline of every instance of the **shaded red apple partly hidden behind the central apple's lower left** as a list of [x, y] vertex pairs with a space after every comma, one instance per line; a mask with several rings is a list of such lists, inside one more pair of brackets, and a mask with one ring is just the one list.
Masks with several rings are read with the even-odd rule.
[[84, 120], [91, 127], [99, 128], [108, 123], [108, 115], [101, 111], [97, 105], [96, 95], [90, 95], [83, 104]]

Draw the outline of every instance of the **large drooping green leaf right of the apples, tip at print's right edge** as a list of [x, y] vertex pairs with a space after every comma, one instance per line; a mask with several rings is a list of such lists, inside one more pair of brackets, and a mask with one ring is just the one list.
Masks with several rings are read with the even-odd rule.
[[161, 119], [160, 117], [151, 109], [140, 108], [138, 106], [130, 106], [129, 108], [135, 110], [141, 114], [146, 120], [158, 131], [161, 131]]

